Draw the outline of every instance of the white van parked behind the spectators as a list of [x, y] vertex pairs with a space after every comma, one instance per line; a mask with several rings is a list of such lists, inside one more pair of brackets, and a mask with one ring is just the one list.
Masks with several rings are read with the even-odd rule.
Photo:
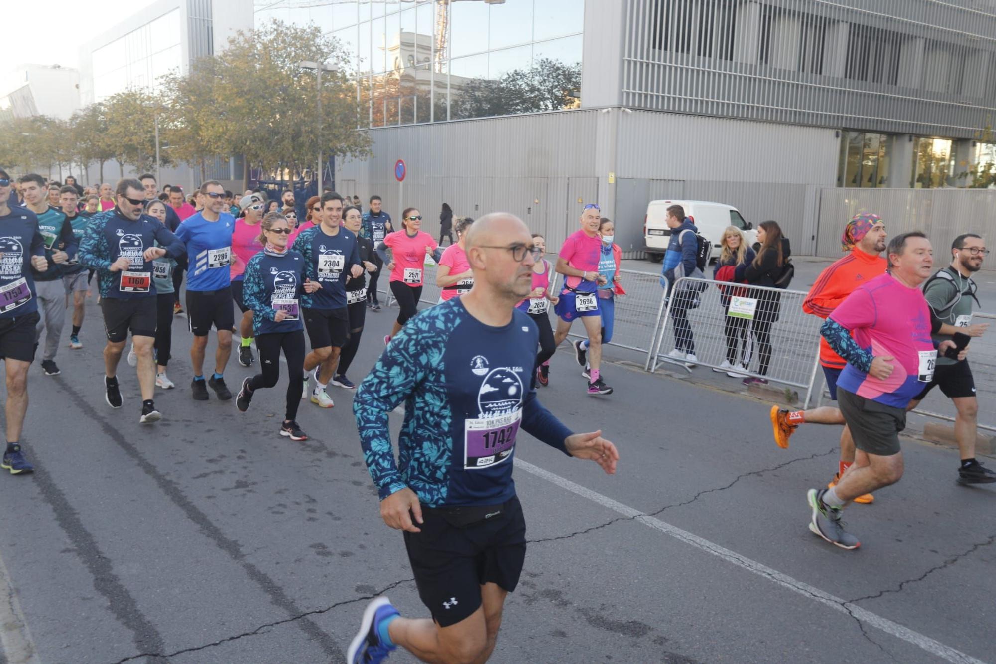
[[643, 241], [646, 243], [647, 257], [654, 262], [659, 263], [663, 259], [667, 242], [671, 239], [671, 229], [667, 227], [667, 208], [671, 205], [681, 205], [685, 216], [692, 217], [692, 223], [698, 228], [698, 232], [712, 244], [713, 258], [719, 256], [719, 242], [726, 226], [736, 226], [743, 230], [747, 246], [753, 246], [757, 241], [757, 230], [753, 224], [744, 221], [740, 210], [732, 205], [707, 200], [651, 200], [646, 206], [646, 216], [643, 217]]

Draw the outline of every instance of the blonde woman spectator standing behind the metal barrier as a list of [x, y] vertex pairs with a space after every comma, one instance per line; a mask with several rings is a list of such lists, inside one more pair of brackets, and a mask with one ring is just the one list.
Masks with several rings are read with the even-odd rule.
[[[720, 240], [722, 250], [719, 260], [712, 269], [712, 278], [716, 281], [734, 281], [737, 267], [752, 262], [755, 258], [754, 249], [747, 246], [747, 239], [743, 231], [736, 226], [726, 226], [723, 230], [723, 239]], [[713, 371], [722, 373], [730, 378], [747, 378], [747, 374], [739, 369], [746, 370], [750, 366], [751, 359], [751, 333], [747, 318], [730, 315], [730, 300], [733, 297], [746, 297], [746, 288], [736, 286], [720, 286], [719, 301], [723, 305], [723, 334], [726, 337], [726, 359]], [[739, 359], [737, 350], [739, 347]]]

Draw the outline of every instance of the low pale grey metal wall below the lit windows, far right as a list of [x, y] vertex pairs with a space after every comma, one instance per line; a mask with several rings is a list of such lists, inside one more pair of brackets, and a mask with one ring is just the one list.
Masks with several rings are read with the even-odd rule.
[[994, 209], [994, 189], [826, 188], [820, 196], [817, 255], [839, 258], [847, 220], [861, 212], [874, 212], [885, 222], [889, 235], [925, 232], [934, 247], [934, 261], [943, 264], [951, 241], [961, 233], [996, 237]]

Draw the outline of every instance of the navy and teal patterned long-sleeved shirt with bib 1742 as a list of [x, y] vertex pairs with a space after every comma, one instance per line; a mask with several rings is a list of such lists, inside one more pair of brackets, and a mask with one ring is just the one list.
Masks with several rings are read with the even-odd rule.
[[[429, 506], [504, 502], [515, 496], [520, 430], [567, 454], [571, 431], [530, 388], [538, 344], [536, 323], [522, 311], [491, 327], [459, 298], [409, 320], [353, 401], [380, 498], [407, 487]], [[401, 403], [395, 465], [387, 416]]]

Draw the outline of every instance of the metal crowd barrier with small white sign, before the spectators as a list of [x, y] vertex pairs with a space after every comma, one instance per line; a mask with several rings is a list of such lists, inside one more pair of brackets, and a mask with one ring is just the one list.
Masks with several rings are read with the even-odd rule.
[[[801, 290], [682, 277], [667, 298], [648, 370], [656, 371], [663, 361], [690, 371], [686, 354], [693, 349], [693, 366], [806, 390], [806, 408], [819, 367], [823, 324], [803, 311], [806, 295]], [[762, 358], [768, 361], [766, 370]]]

